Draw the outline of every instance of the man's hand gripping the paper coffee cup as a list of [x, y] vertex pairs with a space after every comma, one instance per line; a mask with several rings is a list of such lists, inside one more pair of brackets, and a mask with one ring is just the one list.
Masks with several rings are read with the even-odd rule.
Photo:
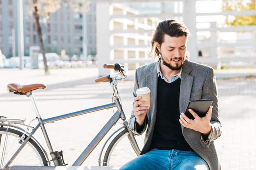
[[144, 123], [149, 107], [139, 106], [140, 104], [147, 104], [146, 101], [139, 101], [139, 99], [141, 99], [140, 96], [134, 98], [134, 105], [132, 107], [132, 111], [136, 117], [137, 124], [141, 126]]

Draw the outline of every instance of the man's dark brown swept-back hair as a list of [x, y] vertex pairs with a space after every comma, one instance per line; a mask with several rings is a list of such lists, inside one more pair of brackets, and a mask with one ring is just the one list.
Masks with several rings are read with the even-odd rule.
[[[155, 32], [153, 33], [153, 38], [151, 41], [151, 51], [149, 53], [153, 54], [154, 59], [155, 57], [161, 57], [161, 53], [157, 49], [155, 42], [158, 42], [158, 44], [162, 45], [165, 34], [171, 37], [181, 37], [185, 35], [187, 38], [190, 36], [189, 29], [177, 20], [167, 19], [159, 22], [155, 29]], [[186, 55], [185, 58], [188, 59], [188, 56]]]

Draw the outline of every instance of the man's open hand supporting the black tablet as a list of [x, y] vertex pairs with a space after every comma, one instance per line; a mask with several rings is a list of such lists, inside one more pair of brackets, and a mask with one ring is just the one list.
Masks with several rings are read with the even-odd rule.
[[204, 135], [209, 135], [209, 133], [211, 132], [210, 120], [212, 108], [213, 106], [210, 106], [206, 116], [204, 117], [199, 117], [192, 109], [189, 109], [189, 112], [193, 115], [195, 119], [189, 119], [184, 113], [181, 113], [179, 119], [180, 124], [182, 124], [182, 126], [184, 126], [185, 128], [190, 128], [195, 131], [201, 132]]

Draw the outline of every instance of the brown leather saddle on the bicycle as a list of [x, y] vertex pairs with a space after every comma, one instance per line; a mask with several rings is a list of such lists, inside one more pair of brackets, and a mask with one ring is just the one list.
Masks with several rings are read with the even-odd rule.
[[16, 95], [25, 95], [29, 91], [33, 91], [40, 88], [46, 88], [44, 84], [29, 84], [29, 85], [20, 85], [17, 83], [11, 83], [7, 85], [7, 91], [9, 93], [14, 93]]

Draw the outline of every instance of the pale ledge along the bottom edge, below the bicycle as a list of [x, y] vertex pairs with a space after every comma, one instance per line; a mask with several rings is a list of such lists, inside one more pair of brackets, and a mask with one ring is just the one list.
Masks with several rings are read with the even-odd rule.
[[8, 170], [118, 170], [111, 166], [11, 166]]

